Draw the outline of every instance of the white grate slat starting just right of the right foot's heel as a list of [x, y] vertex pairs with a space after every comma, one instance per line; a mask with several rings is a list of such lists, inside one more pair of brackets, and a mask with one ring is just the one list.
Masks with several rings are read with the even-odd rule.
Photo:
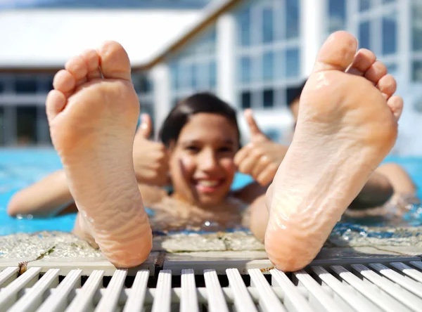
[[350, 286], [340, 282], [331, 273], [326, 271], [322, 266], [312, 266], [312, 271], [318, 275], [318, 277], [328, 285], [338, 296], [343, 299], [347, 304], [352, 306], [355, 311], [362, 312], [381, 312], [380, 308], [375, 306], [371, 301], [368, 301], [364, 297], [359, 297], [356, 291], [351, 291]]

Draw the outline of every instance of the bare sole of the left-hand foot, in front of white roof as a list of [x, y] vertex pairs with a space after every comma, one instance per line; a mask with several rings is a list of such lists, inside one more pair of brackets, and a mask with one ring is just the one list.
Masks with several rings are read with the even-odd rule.
[[115, 266], [139, 265], [152, 234], [132, 159], [139, 101], [127, 53], [113, 41], [85, 51], [66, 63], [53, 86], [46, 112], [79, 209], [75, 232], [94, 238]]

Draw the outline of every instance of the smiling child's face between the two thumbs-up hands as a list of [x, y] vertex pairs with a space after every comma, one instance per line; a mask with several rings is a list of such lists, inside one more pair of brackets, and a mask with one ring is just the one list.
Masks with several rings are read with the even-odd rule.
[[238, 146], [236, 127], [226, 117], [192, 115], [170, 149], [174, 195], [202, 207], [222, 202], [236, 172]]

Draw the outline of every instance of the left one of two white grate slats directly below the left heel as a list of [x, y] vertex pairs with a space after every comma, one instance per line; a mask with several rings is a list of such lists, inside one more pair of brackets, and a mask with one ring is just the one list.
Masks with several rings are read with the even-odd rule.
[[108, 284], [107, 290], [101, 298], [95, 312], [114, 312], [117, 306], [117, 301], [122, 292], [124, 285], [124, 279], [126, 278], [127, 270], [117, 270], [113, 274], [110, 283]]

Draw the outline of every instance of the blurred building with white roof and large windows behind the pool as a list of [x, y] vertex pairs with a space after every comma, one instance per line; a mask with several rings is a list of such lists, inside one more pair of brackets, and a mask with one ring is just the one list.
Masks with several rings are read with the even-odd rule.
[[[193, 2], [161, 0], [166, 1]], [[359, 46], [371, 48], [400, 84], [414, 89], [422, 84], [420, 0], [215, 0], [200, 11], [155, 9], [156, 18], [148, 21], [151, 8], [136, 11], [139, 15], [130, 15], [132, 19], [119, 11], [89, 11], [97, 16], [94, 26], [83, 24], [85, 9], [55, 11], [67, 36], [72, 22], [82, 22], [77, 36], [67, 39], [72, 48], [65, 48], [69, 37], [60, 37], [54, 20], [45, 18], [49, 11], [38, 15], [31, 11], [27, 18], [34, 20], [26, 20], [25, 25], [33, 26], [16, 30], [14, 23], [25, 12], [0, 13], [0, 40], [8, 39], [6, 49], [0, 51], [0, 143], [4, 145], [49, 142], [43, 105], [52, 75], [63, 67], [69, 50], [76, 53], [76, 48], [96, 43], [99, 38], [93, 37], [90, 27], [100, 25], [117, 28], [98, 32], [99, 37], [109, 34], [127, 48], [141, 108], [153, 115], [155, 128], [180, 98], [211, 91], [239, 112], [252, 108], [271, 138], [287, 141], [292, 127], [286, 107], [289, 91], [307, 77], [319, 47], [335, 30], [355, 34]], [[2, 14], [10, 14], [11, 24]], [[10, 30], [4, 30], [6, 25]], [[27, 32], [32, 46], [25, 49], [22, 40], [28, 40]], [[32, 102], [37, 105], [28, 105]], [[241, 126], [245, 130], [242, 121]]]

